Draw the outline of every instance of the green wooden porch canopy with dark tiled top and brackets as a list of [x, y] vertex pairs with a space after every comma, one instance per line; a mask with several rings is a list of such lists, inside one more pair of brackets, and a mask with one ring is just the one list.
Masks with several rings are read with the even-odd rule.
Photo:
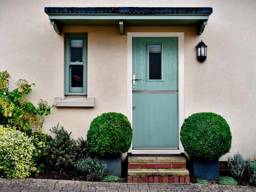
[[212, 7], [45, 7], [57, 34], [62, 25], [197, 26], [201, 35]]

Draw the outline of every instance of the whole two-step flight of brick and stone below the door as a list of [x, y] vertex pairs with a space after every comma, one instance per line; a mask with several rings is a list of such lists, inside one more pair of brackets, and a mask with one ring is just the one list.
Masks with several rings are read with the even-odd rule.
[[189, 183], [186, 158], [128, 157], [128, 183]]

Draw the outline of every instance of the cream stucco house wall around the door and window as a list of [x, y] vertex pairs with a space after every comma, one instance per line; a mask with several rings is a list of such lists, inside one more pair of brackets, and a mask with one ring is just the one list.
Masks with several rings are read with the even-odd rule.
[[[88, 32], [88, 97], [93, 108], [55, 107], [46, 116], [44, 131], [57, 123], [86, 138], [90, 122], [104, 112], [127, 113], [127, 32], [185, 32], [185, 117], [214, 112], [229, 123], [233, 141], [229, 155], [256, 156], [256, 17], [254, 0], [248, 1], [1, 1], [0, 71], [10, 75], [10, 88], [18, 79], [35, 83], [28, 98], [50, 105], [63, 97], [64, 33]], [[205, 31], [196, 27], [63, 26], [58, 35], [44, 7], [212, 7]], [[207, 47], [207, 60], [196, 59], [195, 46]]]

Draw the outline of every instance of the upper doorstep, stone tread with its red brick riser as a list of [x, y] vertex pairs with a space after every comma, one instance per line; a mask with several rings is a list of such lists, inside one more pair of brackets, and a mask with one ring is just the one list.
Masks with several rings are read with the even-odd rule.
[[128, 157], [128, 168], [185, 168], [184, 157]]

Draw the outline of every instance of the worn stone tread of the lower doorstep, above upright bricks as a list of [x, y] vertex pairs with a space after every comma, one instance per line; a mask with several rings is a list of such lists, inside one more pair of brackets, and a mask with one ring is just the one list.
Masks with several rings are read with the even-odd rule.
[[188, 176], [186, 168], [158, 168], [158, 169], [134, 169], [128, 168], [128, 176]]

